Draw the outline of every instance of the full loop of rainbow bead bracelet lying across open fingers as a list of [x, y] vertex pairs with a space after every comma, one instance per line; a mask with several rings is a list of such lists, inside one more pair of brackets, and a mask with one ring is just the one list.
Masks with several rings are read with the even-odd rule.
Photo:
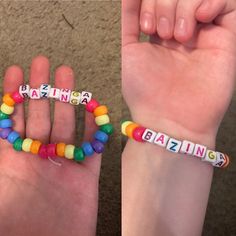
[[[93, 141], [84, 142], [81, 147], [75, 147], [65, 143], [43, 144], [39, 140], [32, 140], [31, 138], [22, 139], [20, 134], [12, 128], [13, 122], [10, 116], [14, 112], [14, 105], [23, 103], [26, 98], [54, 98], [72, 105], [85, 105], [86, 110], [93, 113], [95, 123], [99, 127], [93, 135]], [[48, 84], [42, 84], [39, 89], [30, 88], [29, 85], [21, 85], [19, 91], [5, 94], [0, 107], [0, 128], [0, 137], [8, 140], [16, 151], [30, 152], [42, 158], [65, 157], [74, 159], [76, 162], [81, 162], [86, 156], [92, 156], [94, 153], [102, 153], [109, 135], [113, 133], [107, 107], [92, 99], [92, 93], [51, 88]]]

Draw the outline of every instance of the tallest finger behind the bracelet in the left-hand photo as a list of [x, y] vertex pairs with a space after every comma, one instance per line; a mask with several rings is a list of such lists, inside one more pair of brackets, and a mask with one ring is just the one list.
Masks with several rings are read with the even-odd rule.
[[[30, 71], [30, 86], [39, 88], [41, 84], [49, 83], [49, 61], [46, 57], [38, 56], [33, 59]], [[51, 129], [50, 103], [48, 99], [29, 101], [26, 135], [47, 143]]]

